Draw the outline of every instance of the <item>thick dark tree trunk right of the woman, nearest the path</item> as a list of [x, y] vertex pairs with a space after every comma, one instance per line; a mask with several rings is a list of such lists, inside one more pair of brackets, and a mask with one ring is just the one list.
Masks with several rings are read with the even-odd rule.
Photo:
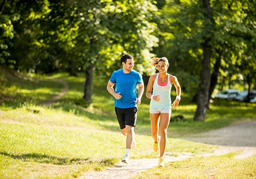
[[[205, 18], [211, 19], [211, 7], [209, 0], [203, 0], [203, 6], [206, 10]], [[209, 25], [209, 24], [208, 24]], [[203, 61], [202, 61], [202, 72], [200, 77], [200, 85], [197, 99], [197, 111], [194, 117], [194, 121], [204, 122], [206, 116], [206, 110], [209, 99], [209, 88], [210, 88], [210, 56], [211, 56], [211, 46], [210, 46], [210, 35], [205, 32], [206, 35], [203, 43]]]

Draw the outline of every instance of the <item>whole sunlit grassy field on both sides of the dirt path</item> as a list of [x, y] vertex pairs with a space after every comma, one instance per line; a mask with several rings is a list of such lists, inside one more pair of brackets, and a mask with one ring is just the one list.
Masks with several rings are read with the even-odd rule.
[[[67, 81], [69, 91], [52, 106], [40, 106], [40, 102], [63, 88], [55, 79]], [[120, 161], [125, 137], [121, 135], [114, 98], [106, 91], [106, 82], [95, 84], [93, 104], [89, 108], [83, 107], [83, 88], [83, 74], [79, 77], [14, 76], [0, 71], [0, 178], [75, 178], [82, 171], [104, 170]], [[256, 119], [256, 104], [216, 101], [207, 111], [205, 122], [193, 122], [196, 105], [189, 101], [184, 94], [180, 106], [173, 110], [173, 117], [183, 115], [186, 121], [170, 123], [167, 152], [210, 153], [214, 150], [212, 145], [179, 138]], [[158, 157], [152, 151], [149, 102], [143, 95], [138, 107], [137, 146], [131, 152], [132, 159]], [[256, 177], [255, 156], [245, 160], [234, 160], [232, 156], [230, 153], [173, 162], [135, 178]], [[198, 173], [200, 167], [208, 174]]]

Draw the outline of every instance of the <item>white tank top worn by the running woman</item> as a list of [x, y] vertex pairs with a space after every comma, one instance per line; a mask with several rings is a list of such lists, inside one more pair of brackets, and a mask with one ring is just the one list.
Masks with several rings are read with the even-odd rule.
[[167, 78], [167, 84], [165, 86], [160, 86], [158, 84], [158, 78], [159, 78], [159, 73], [156, 76], [156, 79], [153, 84], [153, 95], [160, 95], [161, 100], [160, 101], [155, 101], [151, 100], [150, 101], [150, 107], [151, 108], [167, 108], [171, 107], [171, 99], [170, 99], [170, 89], [172, 88], [172, 84], [170, 83], [170, 77], [169, 74]]

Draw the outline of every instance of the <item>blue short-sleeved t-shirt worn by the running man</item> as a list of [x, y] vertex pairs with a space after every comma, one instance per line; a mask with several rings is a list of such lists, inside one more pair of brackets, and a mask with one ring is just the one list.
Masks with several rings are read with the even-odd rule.
[[130, 108], [136, 107], [136, 86], [142, 83], [142, 75], [134, 70], [130, 73], [123, 73], [123, 69], [113, 72], [110, 77], [110, 82], [116, 84], [115, 92], [120, 93], [121, 99], [115, 98], [115, 107]]

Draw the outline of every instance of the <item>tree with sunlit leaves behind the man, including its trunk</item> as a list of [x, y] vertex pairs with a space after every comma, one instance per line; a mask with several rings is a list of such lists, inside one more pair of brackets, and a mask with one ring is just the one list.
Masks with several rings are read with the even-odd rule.
[[86, 84], [83, 98], [87, 105], [91, 103], [94, 74], [100, 75], [102, 66], [108, 70], [114, 70], [112, 64], [120, 68], [122, 54], [133, 55], [138, 60], [135, 69], [141, 73], [152, 71], [146, 60], [151, 59], [150, 50], [158, 42], [151, 35], [156, 28], [151, 22], [156, 10], [152, 3], [142, 0], [132, 4], [127, 1], [91, 1], [80, 9], [86, 19], [80, 23], [79, 31], [82, 32], [79, 34], [83, 35], [78, 37], [78, 47], [84, 53]]

